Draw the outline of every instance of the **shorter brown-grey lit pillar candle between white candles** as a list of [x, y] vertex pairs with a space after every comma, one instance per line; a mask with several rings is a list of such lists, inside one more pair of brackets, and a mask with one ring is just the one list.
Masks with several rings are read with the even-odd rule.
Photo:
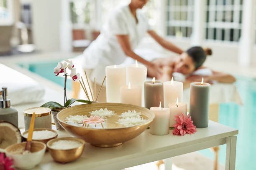
[[159, 103], [164, 103], [163, 95], [163, 82], [161, 81], [145, 81], [144, 82], [144, 96], [145, 96], [145, 107], [159, 106]]

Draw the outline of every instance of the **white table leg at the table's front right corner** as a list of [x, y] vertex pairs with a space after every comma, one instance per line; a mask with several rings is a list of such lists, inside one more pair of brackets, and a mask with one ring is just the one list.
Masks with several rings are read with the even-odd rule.
[[236, 136], [230, 136], [226, 139], [226, 164], [225, 170], [235, 170], [236, 165]]

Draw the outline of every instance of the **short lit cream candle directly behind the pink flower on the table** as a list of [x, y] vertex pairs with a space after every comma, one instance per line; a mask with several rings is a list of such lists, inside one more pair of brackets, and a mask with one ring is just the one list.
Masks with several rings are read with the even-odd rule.
[[187, 117], [187, 103], [179, 102], [179, 98], [177, 98], [177, 102], [170, 103], [168, 107], [170, 108], [170, 127], [173, 127], [172, 125], [176, 123], [174, 120], [176, 117], [174, 116], [182, 116], [181, 113], [183, 113]]

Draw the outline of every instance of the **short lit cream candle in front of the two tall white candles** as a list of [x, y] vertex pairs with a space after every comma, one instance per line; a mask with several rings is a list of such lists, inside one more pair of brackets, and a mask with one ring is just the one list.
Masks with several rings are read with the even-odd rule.
[[141, 106], [141, 86], [124, 85], [120, 89], [121, 103]]

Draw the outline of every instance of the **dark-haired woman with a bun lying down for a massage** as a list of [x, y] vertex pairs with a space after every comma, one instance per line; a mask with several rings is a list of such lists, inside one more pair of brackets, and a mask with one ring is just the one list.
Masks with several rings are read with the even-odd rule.
[[[169, 81], [174, 76], [173, 73], [181, 73], [185, 76], [184, 88], [189, 87], [191, 82], [201, 82], [202, 77], [204, 77], [204, 82], [208, 83], [214, 81], [222, 83], [235, 82], [236, 79], [232, 75], [216, 72], [202, 66], [207, 55], [211, 54], [212, 50], [210, 48], [191, 47], [179, 57], [155, 59], [153, 63], [162, 67], [161, 75], [156, 78], [162, 81]], [[148, 71], [148, 77], [152, 77], [150, 70]]]

